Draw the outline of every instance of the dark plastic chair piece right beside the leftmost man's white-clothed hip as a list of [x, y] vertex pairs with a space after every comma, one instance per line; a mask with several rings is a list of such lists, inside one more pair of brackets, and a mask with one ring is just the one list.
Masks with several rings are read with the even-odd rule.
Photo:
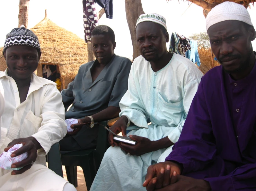
[[63, 178], [59, 143], [52, 145], [50, 151], [47, 154], [47, 161], [48, 168]]

